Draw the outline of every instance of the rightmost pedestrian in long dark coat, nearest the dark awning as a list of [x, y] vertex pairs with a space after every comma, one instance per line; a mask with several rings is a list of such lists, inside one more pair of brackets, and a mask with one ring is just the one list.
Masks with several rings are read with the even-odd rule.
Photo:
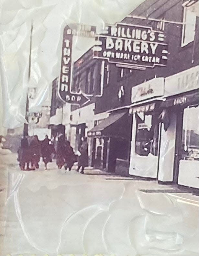
[[84, 168], [88, 166], [88, 143], [86, 137], [82, 138], [82, 145], [80, 146], [79, 151], [81, 155], [78, 156], [77, 172], [79, 172], [80, 168], [82, 167], [81, 173], [84, 174]]

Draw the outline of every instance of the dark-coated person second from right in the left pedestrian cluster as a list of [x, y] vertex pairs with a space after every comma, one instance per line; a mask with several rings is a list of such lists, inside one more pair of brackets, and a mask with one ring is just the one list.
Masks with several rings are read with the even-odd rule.
[[34, 135], [33, 140], [30, 142], [29, 151], [31, 156], [31, 169], [39, 169], [40, 141], [37, 135]]

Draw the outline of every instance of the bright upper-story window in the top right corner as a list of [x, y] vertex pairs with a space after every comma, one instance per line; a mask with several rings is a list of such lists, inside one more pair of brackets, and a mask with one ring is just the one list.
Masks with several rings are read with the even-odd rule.
[[[186, 4], [186, 3], [185, 3]], [[183, 6], [183, 25], [182, 25], [182, 47], [193, 42], [195, 37], [196, 17], [199, 14], [198, 2], [193, 5]]]

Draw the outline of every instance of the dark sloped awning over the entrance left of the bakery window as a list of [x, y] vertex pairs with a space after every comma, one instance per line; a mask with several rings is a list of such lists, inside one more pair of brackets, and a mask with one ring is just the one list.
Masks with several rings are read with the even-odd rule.
[[128, 110], [115, 111], [97, 126], [88, 131], [88, 137], [117, 137], [128, 139], [132, 116]]

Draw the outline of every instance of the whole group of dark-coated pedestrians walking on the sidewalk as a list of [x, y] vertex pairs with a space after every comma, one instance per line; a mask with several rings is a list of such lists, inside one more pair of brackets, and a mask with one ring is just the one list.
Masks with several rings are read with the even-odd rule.
[[21, 140], [21, 147], [18, 150], [18, 161], [21, 170], [29, 171], [38, 169], [40, 157], [42, 157], [45, 170], [47, 170], [47, 164], [52, 162], [52, 153], [54, 153], [58, 169], [64, 167], [65, 170], [71, 171], [74, 162], [77, 161], [77, 171], [79, 172], [80, 168], [82, 168], [81, 173], [84, 173], [84, 167], [88, 166], [87, 138], [82, 138], [78, 157], [75, 155], [70, 142], [65, 139], [63, 134], [60, 134], [57, 139], [58, 141], [55, 147], [54, 141], [50, 140], [47, 135], [41, 141], [37, 135], [23, 138]]

